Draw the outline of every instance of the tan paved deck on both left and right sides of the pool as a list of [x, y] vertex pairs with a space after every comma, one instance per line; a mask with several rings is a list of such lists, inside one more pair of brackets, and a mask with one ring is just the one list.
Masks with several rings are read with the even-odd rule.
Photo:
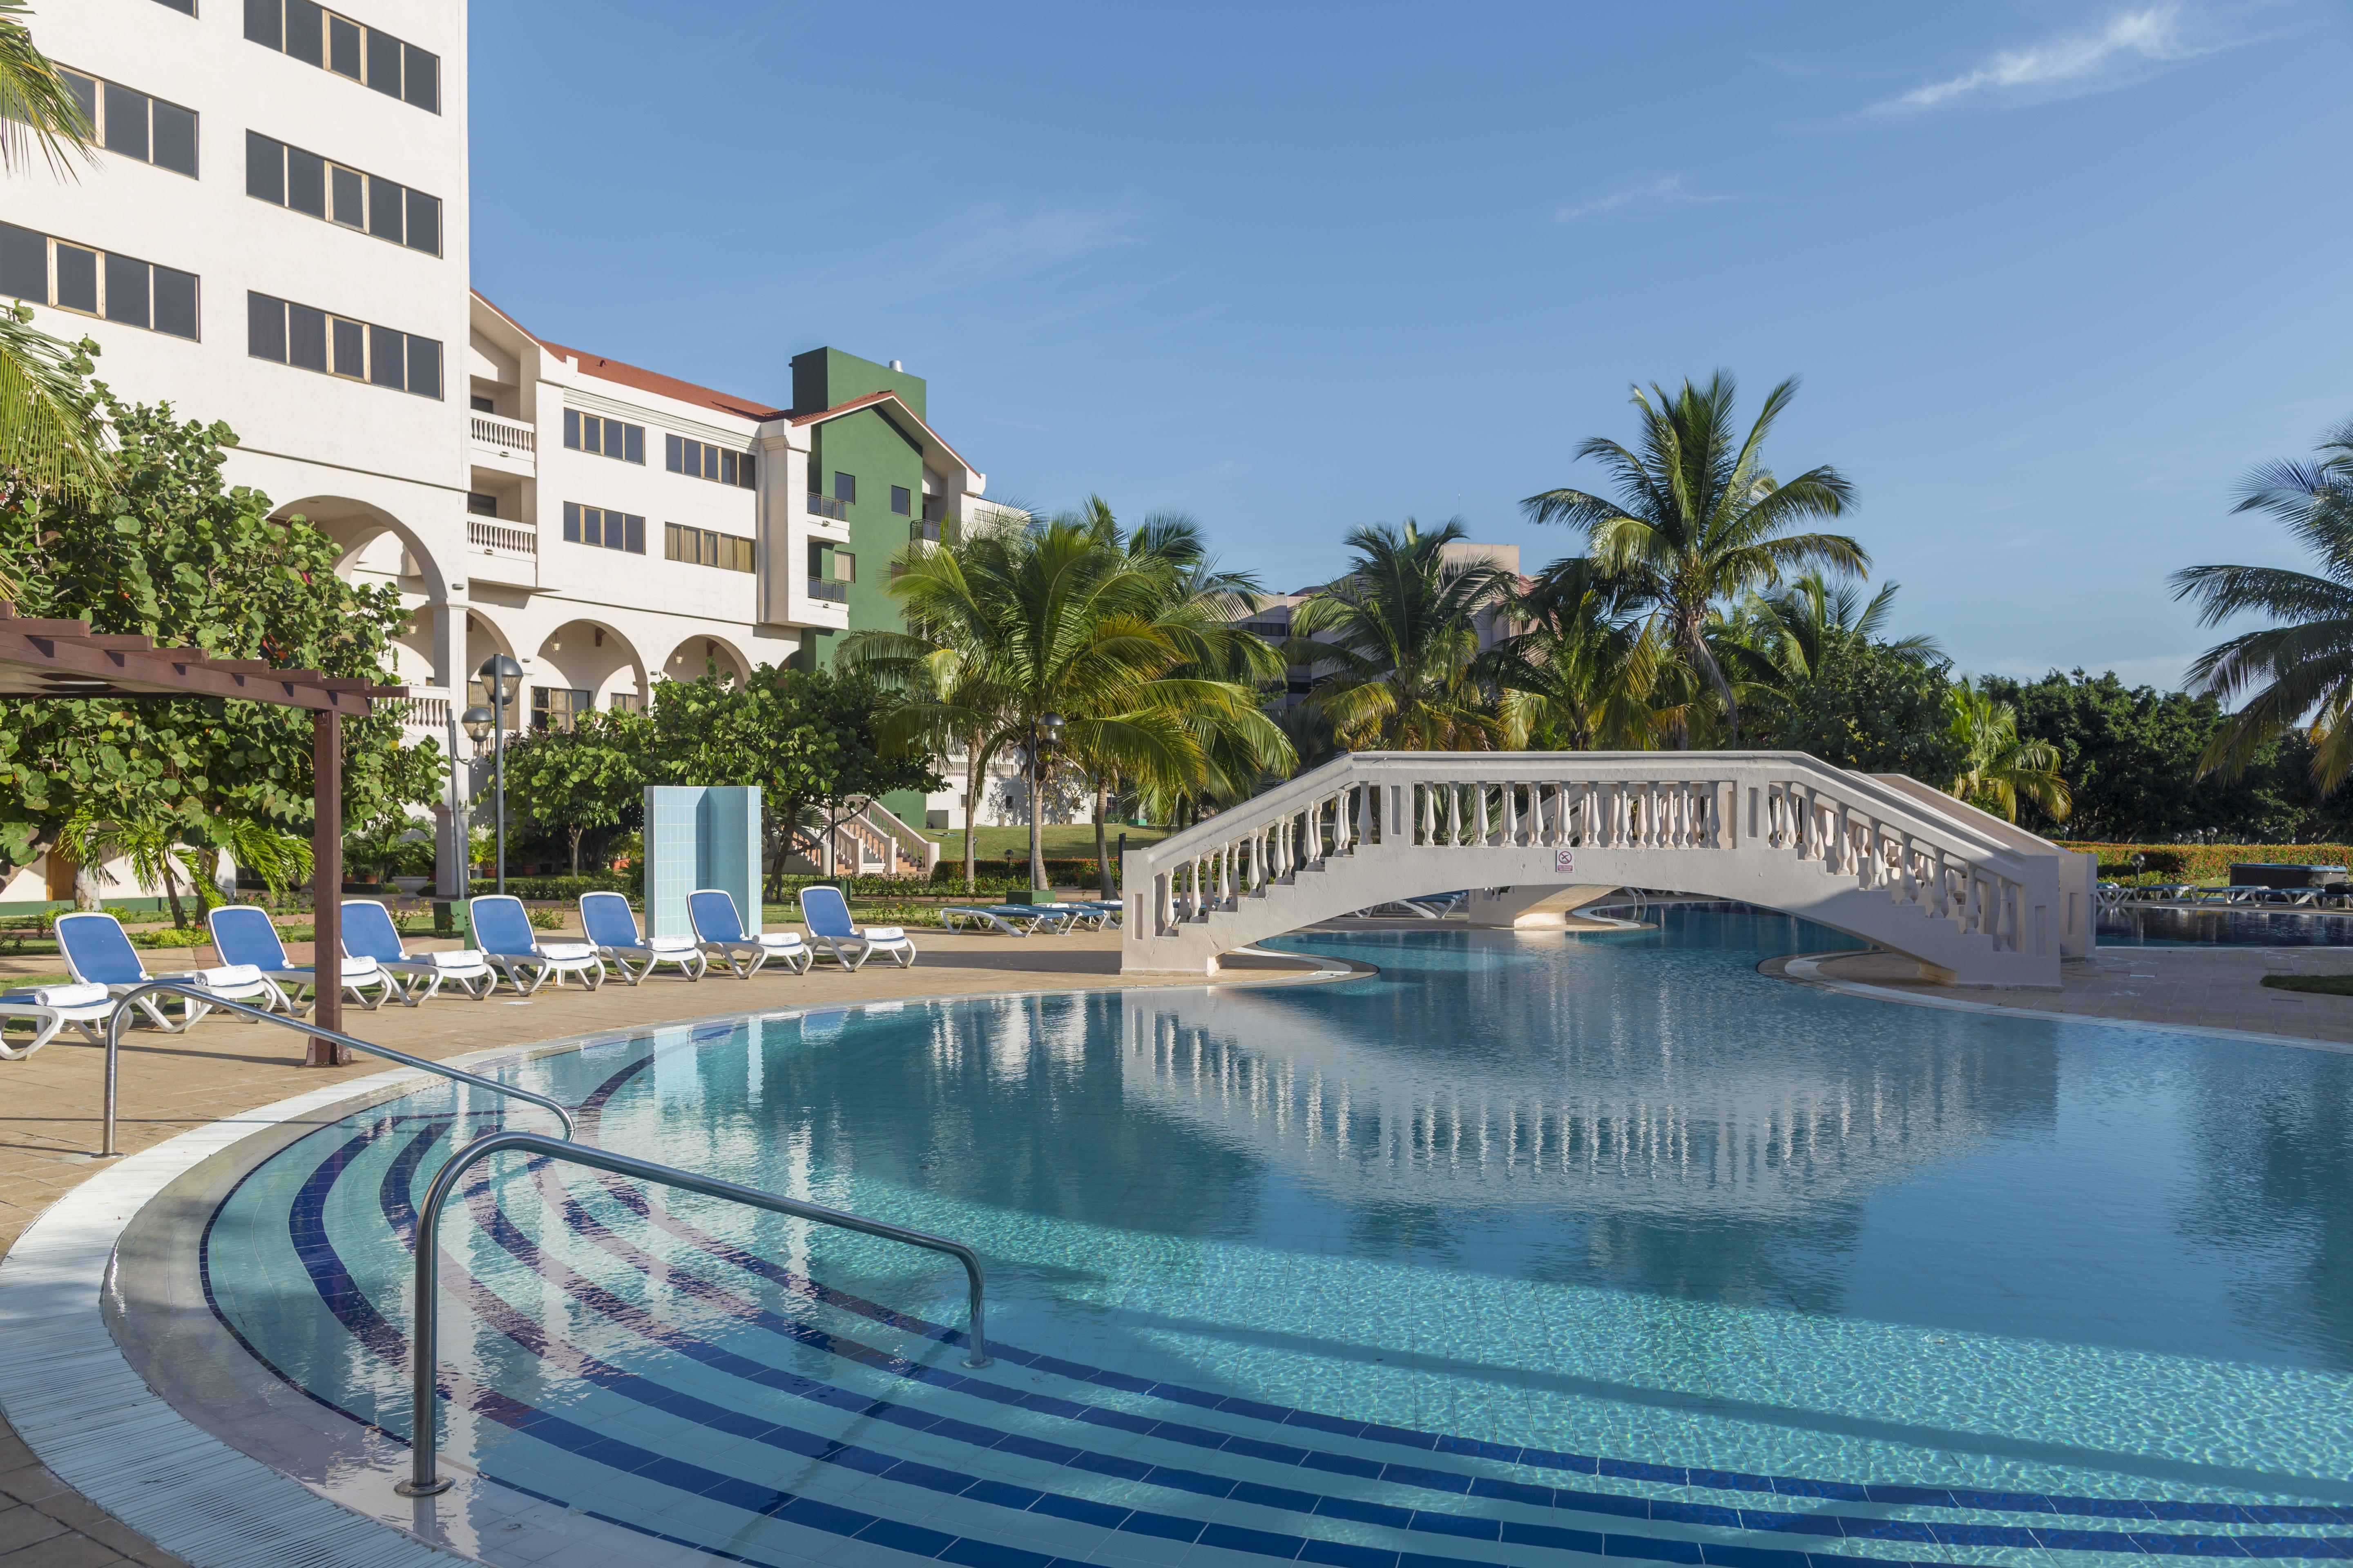
[[[560, 940], [565, 933], [551, 933]], [[440, 997], [419, 1009], [388, 1004], [374, 1013], [346, 1009], [346, 1032], [426, 1058], [452, 1058], [501, 1044], [558, 1041], [631, 1025], [678, 1023], [784, 1006], [828, 1006], [913, 997], [972, 997], [1014, 992], [1073, 992], [1120, 985], [1200, 985], [1172, 976], [1122, 980], [1118, 933], [1014, 940], [1005, 936], [946, 936], [915, 931], [915, 969], [868, 964], [859, 973], [816, 969], [809, 976], [762, 971], [751, 980], [720, 973], [701, 983], [678, 978], [600, 992], [541, 990], [527, 1001]], [[433, 947], [435, 943], [412, 943]], [[440, 943], [454, 945], [454, 943]], [[148, 969], [212, 964], [207, 947], [151, 952]], [[294, 950], [296, 961], [308, 952]], [[45, 973], [54, 959], [0, 959], [0, 978]], [[1786, 959], [1767, 964], [1779, 973]], [[1308, 964], [1238, 957], [1221, 983], [1285, 983], [1308, 978]], [[2266, 990], [2266, 973], [2353, 973], [2353, 950], [2341, 947], [2108, 947], [2068, 964], [2061, 990], [1991, 992], [1934, 985], [1918, 964], [1885, 952], [1819, 961], [1819, 980], [1861, 987], [1906, 1001], [1962, 1001], [1998, 1011], [2113, 1018], [2172, 1027], [2275, 1034], [2322, 1046], [2353, 1046], [2353, 997], [2313, 997]], [[122, 1058], [118, 1143], [144, 1150], [174, 1133], [238, 1117], [304, 1088], [360, 1079], [384, 1070], [376, 1058], [351, 1067], [296, 1067], [301, 1037], [268, 1025], [209, 1018], [188, 1034], [139, 1032]], [[104, 1051], [78, 1034], [61, 1037], [28, 1060], [0, 1063], [0, 1251], [66, 1190], [106, 1161], [99, 1147], [99, 1086]], [[179, 1566], [94, 1502], [52, 1476], [0, 1422], [0, 1568]]]

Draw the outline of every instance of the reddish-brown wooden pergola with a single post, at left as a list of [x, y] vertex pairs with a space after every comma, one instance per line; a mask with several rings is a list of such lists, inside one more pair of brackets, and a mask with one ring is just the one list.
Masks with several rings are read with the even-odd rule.
[[[0, 698], [162, 698], [228, 696], [311, 710], [311, 886], [313, 966], [322, 1030], [344, 1027], [344, 715], [405, 698], [407, 686], [318, 670], [273, 670], [259, 658], [214, 658], [205, 649], [158, 649], [148, 637], [94, 632], [87, 621], [28, 621], [0, 599]], [[348, 1053], [311, 1037], [306, 1065]]]

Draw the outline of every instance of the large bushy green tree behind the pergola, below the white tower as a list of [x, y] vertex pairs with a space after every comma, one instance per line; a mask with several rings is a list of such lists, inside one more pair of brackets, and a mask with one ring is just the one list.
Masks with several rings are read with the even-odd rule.
[[[334, 574], [339, 545], [304, 517], [271, 520], [256, 489], [221, 482], [228, 425], [129, 407], [94, 388], [115, 489], [0, 498], [0, 564], [24, 616], [87, 618], [221, 658], [384, 679], [407, 616], [393, 588]], [[344, 820], [431, 802], [440, 748], [400, 743], [400, 715], [344, 722]], [[68, 820], [207, 835], [219, 820], [311, 827], [311, 715], [224, 698], [0, 701], [0, 875], [42, 856]], [[212, 832], [219, 839], [219, 832]]]

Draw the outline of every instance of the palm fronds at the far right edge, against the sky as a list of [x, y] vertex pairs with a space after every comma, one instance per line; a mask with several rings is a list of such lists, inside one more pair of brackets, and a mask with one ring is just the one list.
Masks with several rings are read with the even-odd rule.
[[2242, 632], [2195, 658], [2193, 686], [2231, 701], [2233, 712], [2198, 757], [2200, 773], [2235, 778], [2266, 741], [2311, 724], [2313, 783], [2322, 792], [2353, 771], [2353, 421], [2329, 430], [2320, 461], [2292, 458], [2252, 470], [2235, 512], [2271, 512], [2318, 557], [2320, 574], [2285, 567], [2191, 567], [2174, 574], [2174, 597], [2198, 602], [2198, 623], [2219, 625], [2257, 611], [2280, 621]]

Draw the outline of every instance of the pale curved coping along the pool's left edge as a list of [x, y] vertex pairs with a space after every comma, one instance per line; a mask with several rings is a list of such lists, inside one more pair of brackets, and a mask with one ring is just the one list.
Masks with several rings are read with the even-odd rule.
[[[1254, 957], [1289, 959], [1301, 969], [1252, 978], [1202, 980], [1202, 992], [1318, 985], [1379, 973], [1369, 964], [1329, 954], [1294, 954], [1240, 947]], [[991, 992], [991, 1001], [1024, 997], [1087, 997], [1134, 987], [1031, 987]], [[1146, 990], [1193, 990], [1191, 985], [1155, 985]], [[704, 1013], [659, 1025], [598, 1030], [560, 1039], [489, 1046], [445, 1058], [445, 1067], [480, 1072], [565, 1051], [588, 1051], [647, 1034], [652, 1030], [692, 1027], [720, 1020], [786, 1020], [809, 1013], [849, 1013], [871, 1006], [976, 1001], [972, 994], [889, 997], [842, 1006], [786, 1006]], [[235, 1117], [224, 1117], [176, 1133], [120, 1164], [92, 1175], [45, 1208], [16, 1244], [0, 1258], [0, 1335], [9, 1347], [0, 1356], [0, 1413], [33, 1458], [47, 1465], [66, 1486], [139, 1530], [146, 1540], [191, 1563], [191, 1568], [280, 1568], [282, 1563], [336, 1563], [351, 1568], [449, 1568], [478, 1563], [480, 1556], [435, 1544], [426, 1533], [440, 1533], [438, 1512], [475, 1497], [478, 1488], [496, 1488], [529, 1509], [558, 1514], [567, 1535], [593, 1523], [576, 1512], [551, 1509], [496, 1481], [442, 1458], [459, 1486], [440, 1497], [419, 1497], [407, 1507], [416, 1528], [355, 1512], [304, 1481], [264, 1465], [242, 1448], [214, 1436], [184, 1415], [162, 1392], [153, 1389], [132, 1366], [108, 1324], [108, 1298], [118, 1291], [115, 1251], [136, 1215], [169, 1187], [198, 1173], [200, 1166], [252, 1164], [228, 1161], [240, 1145], [278, 1143], [296, 1119], [339, 1121], [353, 1110], [384, 1103], [440, 1079], [416, 1067], [393, 1067], [365, 1079], [346, 1079], [308, 1093], [271, 1100]], [[332, 1114], [329, 1114], [332, 1112]], [[252, 1152], [252, 1150], [249, 1150]], [[268, 1150], [268, 1152], [275, 1152]], [[254, 1363], [259, 1378], [268, 1368]], [[384, 1486], [391, 1497], [391, 1483]], [[520, 1512], [518, 1509], [499, 1509]], [[619, 1526], [605, 1526], [621, 1530]], [[631, 1530], [649, 1549], [666, 1542]], [[504, 1544], [504, 1542], [501, 1542]], [[520, 1544], [520, 1542], [518, 1542]], [[701, 1552], [647, 1552], [656, 1561], [708, 1561]]]

